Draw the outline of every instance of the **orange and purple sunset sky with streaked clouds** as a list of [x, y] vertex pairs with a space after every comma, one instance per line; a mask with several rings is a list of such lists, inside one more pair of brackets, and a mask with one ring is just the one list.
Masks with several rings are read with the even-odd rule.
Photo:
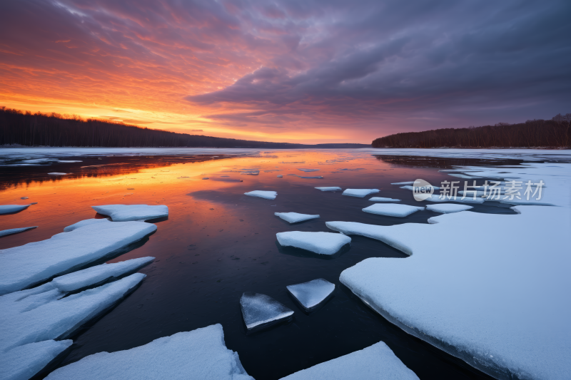
[[0, 106], [370, 143], [571, 112], [571, 1], [0, 0]]

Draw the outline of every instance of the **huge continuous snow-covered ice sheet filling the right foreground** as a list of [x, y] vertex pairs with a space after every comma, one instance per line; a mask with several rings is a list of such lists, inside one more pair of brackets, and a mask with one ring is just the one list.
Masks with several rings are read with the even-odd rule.
[[340, 281], [401, 329], [491, 376], [567, 379], [571, 165], [487, 170], [543, 180], [548, 188], [538, 202], [557, 207], [512, 207], [517, 215], [456, 212], [431, 217], [433, 224], [388, 227], [328, 222], [410, 255], [363, 260]]

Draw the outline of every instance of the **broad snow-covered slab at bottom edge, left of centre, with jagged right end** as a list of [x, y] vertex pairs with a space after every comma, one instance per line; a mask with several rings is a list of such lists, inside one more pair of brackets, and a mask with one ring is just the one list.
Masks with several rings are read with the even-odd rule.
[[178, 332], [133, 349], [99, 352], [56, 369], [48, 380], [253, 380], [226, 348], [221, 324]]

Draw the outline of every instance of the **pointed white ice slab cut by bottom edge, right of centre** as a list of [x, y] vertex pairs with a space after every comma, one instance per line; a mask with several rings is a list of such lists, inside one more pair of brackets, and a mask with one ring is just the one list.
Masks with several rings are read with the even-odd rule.
[[418, 380], [418, 376], [384, 342], [378, 342], [281, 380]]

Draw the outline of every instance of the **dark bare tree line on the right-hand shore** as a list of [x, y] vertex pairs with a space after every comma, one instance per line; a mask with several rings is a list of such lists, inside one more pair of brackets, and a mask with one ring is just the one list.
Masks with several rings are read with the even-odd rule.
[[571, 113], [559, 113], [551, 120], [396, 133], [373, 140], [373, 148], [568, 148], [570, 127]]

